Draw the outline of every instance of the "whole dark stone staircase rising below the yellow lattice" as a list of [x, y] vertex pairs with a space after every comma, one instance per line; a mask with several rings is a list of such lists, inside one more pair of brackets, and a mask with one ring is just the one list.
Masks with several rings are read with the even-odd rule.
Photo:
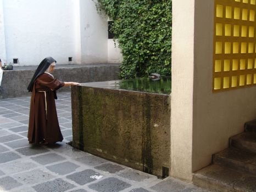
[[193, 175], [194, 184], [213, 191], [256, 191], [256, 120], [230, 138], [228, 149], [213, 155], [213, 164]]

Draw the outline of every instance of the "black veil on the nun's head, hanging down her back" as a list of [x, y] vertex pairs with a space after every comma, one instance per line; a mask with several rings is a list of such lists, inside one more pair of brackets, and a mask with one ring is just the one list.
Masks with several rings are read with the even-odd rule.
[[[44, 73], [44, 71], [46, 71], [48, 69], [48, 67], [55, 61], [55, 59], [53, 59], [52, 57], [48, 57], [45, 58], [41, 61], [41, 63], [39, 64], [39, 66], [36, 69], [36, 72], [34, 74], [34, 76], [32, 77], [29, 86], [27, 87], [27, 90], [29, 90], [29, 92], [32, 92], [33, 86], [34, 86], [34, 82], [36, 81], [36, 78], [40, 75], [42, 75]], [[56, 61], [55, 61], [56, 63]]]

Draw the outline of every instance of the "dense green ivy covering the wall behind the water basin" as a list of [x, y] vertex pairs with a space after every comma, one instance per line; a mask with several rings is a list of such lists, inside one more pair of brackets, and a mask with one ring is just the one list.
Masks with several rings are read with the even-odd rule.
[[171, 0], [98, 0], [97, 8], [114, 21], [121, 78], [171, 74]]

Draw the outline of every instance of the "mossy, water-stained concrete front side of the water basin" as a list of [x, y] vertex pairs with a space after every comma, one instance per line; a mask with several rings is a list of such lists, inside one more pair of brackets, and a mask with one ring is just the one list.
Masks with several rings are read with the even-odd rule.
[[162, 176], [170, 162], [169, 95], [71, 88], [73, 146]]

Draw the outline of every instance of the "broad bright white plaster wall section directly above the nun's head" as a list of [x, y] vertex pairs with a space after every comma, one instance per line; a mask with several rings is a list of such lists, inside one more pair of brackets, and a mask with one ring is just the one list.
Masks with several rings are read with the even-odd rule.
[[[75, 13], [79, 0], [3, 0], [7, 61], [38, 65], [52, 56], [59, 64], [81, 60]], [[78, 51], [79, 52], [79, 51]]]

